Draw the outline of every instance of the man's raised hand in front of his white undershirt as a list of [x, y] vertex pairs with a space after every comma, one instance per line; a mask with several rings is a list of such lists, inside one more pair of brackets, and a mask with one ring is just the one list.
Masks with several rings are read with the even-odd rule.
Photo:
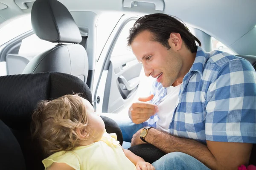
[[145, 98], [140, 97], [140, 102], [136, 102], [131, 105], [129, 108], [129, 117], [131, 118], [132, 122], [135, 124], [143, 123], [148, 120], [150, 116], [153, 116], [158, 112], [157, 105], [146, 103], [153, 99], [153, 97], [153, 94]]

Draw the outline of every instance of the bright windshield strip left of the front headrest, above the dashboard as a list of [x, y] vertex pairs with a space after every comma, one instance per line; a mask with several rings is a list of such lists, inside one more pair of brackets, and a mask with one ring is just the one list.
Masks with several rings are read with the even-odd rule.
[[30, 14], [17, 18], [0, 28], [0, 45], [32, 29]]

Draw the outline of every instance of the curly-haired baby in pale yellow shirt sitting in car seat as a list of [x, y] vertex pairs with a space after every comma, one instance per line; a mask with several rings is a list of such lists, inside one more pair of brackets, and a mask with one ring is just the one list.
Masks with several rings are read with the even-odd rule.
[[86, 99], [65, 95], [42, 101], [32, 114], [32, 134], [48, 155], [47, 170], [154, 170], [108, 134]]

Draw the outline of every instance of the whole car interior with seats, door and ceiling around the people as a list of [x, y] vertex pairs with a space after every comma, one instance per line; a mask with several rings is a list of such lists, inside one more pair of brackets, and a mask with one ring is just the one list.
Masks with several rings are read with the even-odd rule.
[[[0, 39], [6, 35], [0, 40], [0, 169], [44, 169], [45, 155], [30, 134], [31, 114], [39, 101], [74, 92], [93, 105], [122, 145], [120, 128], [104, 114], [125, 119], [142, 89], [151, 87], [126, 42], [129, 28], [145, 14], [176, 16], [205, 51], [227, 50], [256, 69], [255, 6], [254, 0], [0, 0]], [[28, 28], [24, 20], [10, 25], [26, 16]], [[31, 36], [47, 48], [20, 53]], [[38, 45], [30, 44], [25, 52]], [[150, 144], [129, 150], [148, 162], [165, 154]], [[256, 165], [256, 144], [249, 164]]]

